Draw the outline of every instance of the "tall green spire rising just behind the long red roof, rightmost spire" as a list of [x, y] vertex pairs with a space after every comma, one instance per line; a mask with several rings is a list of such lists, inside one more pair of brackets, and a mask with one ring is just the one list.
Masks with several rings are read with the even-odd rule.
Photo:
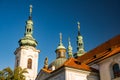
[[80, 34], [80, 22], [78, 22], [77, 24], [78, 24], [77, 53], [74, 55], [75, 57], [81, 56], [84, 53], [83, 37]]

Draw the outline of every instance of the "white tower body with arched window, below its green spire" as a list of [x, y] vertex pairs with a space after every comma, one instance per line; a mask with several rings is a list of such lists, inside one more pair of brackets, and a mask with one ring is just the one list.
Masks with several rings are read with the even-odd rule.
[[[28, 73], [25, 74], [26, 80], [35, 80], [38, 70], [38, 54], [39, 50], [31, 46], [21, 46], [15, 51], [15, 66], [27, 68]], [[30, 61], [30, 67], [29, 62]]]

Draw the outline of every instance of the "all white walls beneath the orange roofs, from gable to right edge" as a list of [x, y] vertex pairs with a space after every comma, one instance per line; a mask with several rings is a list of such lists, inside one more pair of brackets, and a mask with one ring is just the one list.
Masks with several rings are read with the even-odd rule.
[[120, 80], [119, 75], [119, 77], [115, 77], [113, 71], [114, 64], [118, 64], [120, 69], [120, 53], [91, 65], [98, 69], [99, 72], [91, 72], [72, 67], [61, 67], [53, 70], [51, 73], [41, 70], [36, 80]]

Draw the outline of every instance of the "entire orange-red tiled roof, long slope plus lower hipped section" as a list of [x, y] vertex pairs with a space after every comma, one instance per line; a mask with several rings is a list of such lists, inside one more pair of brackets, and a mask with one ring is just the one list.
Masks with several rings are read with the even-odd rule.
[[[76, 68], [76, 69], [80, 69], [80, 70], [98, 72], [98, 70], [88, 66], [87, 64], [89, 64], [91, 62], [95, 62], [95, 61], [104, 60], [110, 56], [118, 54], [119, 52], [120, 52], [120, 35], [101, 44], [100, 46], [85, 53], [84, 55], [78, 57], [77, 59], [75, 59], [75, 58], [68, 59], [58, 69], [60, 69], [62, 67], [71, 67], [71, 68]], [[44, 69], [44, 68], [42, 70], [47, 73], [54, 72], [54, 71]]]

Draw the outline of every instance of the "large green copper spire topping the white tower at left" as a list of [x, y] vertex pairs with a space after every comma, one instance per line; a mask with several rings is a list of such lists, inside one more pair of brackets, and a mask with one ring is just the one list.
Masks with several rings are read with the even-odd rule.
[[32, 21], [32, 5], [30, 5], [29, 19], [26, 21], [25, 34], [22, 39], [19, 40], [20, 46], [37, 46], [37, 41], [33, 38], [33, 21]]

